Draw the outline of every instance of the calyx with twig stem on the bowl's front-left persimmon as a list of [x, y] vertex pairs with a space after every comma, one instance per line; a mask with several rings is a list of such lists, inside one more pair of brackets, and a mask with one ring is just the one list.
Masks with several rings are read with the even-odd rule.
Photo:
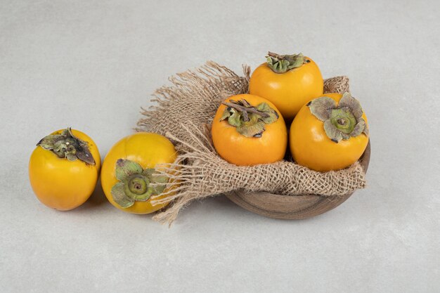
[[239, 134], [246, 137], [260, 138], [266, 130], [264, 125], [278, 120], [278, 113], [267, 103], [260, 103], [256, 107], [250, 105], [247, 100], [230, 100], [223, 102], [227, 108], [221, 115], [220, 121], [226, 120], [231, 126], [235, 126]]

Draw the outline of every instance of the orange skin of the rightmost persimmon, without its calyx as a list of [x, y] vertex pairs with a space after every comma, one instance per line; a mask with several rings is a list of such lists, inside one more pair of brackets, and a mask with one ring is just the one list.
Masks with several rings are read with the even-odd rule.
[[[336, 103], [342, 98], [340, 93], [325, 93], [323, 96]], [[362, 117], [368, 124], [365, 112]], [[289, 144], [297, 164], [315, 171], [331, 171], [354, 164], [365, 151], [368, 136], [360, 134], [335, 143], [325, 134], [323, 122], [311, 114], [309, 106], [304, 105], [290, 126]]]

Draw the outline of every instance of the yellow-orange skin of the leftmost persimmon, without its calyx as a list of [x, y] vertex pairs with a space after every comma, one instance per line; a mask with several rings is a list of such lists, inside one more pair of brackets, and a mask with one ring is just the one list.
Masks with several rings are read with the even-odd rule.
[[[63, 129], [52, 134], [61, 134]], [[89, 199], [98, 181], [101, 156], [96, 143], [81, 131], [72, 129], [72, 134], [88, 143], [94, 165], [77, 159], [70, 162], [58, 157], [51, 150], [37, 146], [29, 162], [29, 178], [35, 195], [47, 207], [59, 211], [75, 209]]]

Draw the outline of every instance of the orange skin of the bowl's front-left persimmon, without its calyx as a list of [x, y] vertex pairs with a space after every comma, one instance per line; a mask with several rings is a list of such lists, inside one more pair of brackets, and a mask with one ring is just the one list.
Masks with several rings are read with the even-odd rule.
[[226, 109], [220, 105], [212, 122], [212, 142], [220, 157], [227, 162], [238, 166], [250, 166], [255, 164], [269, 164], [280, 161], [285, 155], [287, 148], [287, 129], [280, 111], [270, 101], [250, 94], [231, 96], [225, 101], [247, 100], [251, 105], [259, 103], [268, 105], [278, 112], [276, 122], [265, 125], [265, 131], [260, 138], [246, 137], [239, 134], [235, 126], [228, 124], [226, 120], [220, 121]]

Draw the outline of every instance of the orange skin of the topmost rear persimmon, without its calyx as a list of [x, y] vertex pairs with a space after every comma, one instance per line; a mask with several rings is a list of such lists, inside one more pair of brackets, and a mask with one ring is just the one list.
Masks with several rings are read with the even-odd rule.
[[324, 81], [318, 65], [309, 63], [284, 73], [276, 73], [263, 63], [257, 67], [249, 82], [249, 93], [270, 100], [287, 122], [292, 122], [303, 105], [322, 96]]

